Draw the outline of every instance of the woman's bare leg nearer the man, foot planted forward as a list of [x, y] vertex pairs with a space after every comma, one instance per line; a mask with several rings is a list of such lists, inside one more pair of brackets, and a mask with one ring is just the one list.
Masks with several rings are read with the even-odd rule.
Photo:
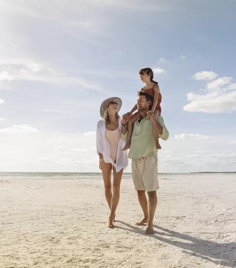
[[111, 214], [109, 216], [108, 219], [108, 227], [110, 228], [114, 228], [114, 224], [113, 221], [115, 219], [115, 212], [118, 206], [118, 202], [119, 202], [119, 190], [120, 190], [120, 182], [121, 182], [121, 178], [123, 175], [123, 169], [121, 169], [119, 172], [116, 171], [116, 168], [113, 167], [113, 196], [112, 196], [112, 200], [111, 200]]

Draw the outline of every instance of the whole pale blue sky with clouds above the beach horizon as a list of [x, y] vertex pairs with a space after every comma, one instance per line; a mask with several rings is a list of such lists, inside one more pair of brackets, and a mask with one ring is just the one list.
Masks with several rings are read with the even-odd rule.
[[[100, 105], [151, 67], [159, 172], [236, 171], [235, 0], [0, 0], [0, 171], [99, 172]], [[131, 172], [131, 160], [125, 172]]]

